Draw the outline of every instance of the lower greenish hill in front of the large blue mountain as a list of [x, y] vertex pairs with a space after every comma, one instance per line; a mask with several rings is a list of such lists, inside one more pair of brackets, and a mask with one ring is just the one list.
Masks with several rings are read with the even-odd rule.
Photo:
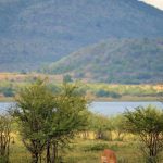
[[163, 80], [163, 39], [111, 39], [80, 49], [46, 72], [121, 84]]

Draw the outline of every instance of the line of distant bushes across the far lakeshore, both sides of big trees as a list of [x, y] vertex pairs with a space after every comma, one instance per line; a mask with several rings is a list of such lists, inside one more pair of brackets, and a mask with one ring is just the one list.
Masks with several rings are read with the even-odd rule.
[[[35, 80], [35, 78], [33, 79]], [[1, 82], [0, 83], [0, 96], [1, 97], [14, 97], [17, 91], [24, 86], [32, 83], [13, 83]], [[50, 83], [48, 86], [54, 93], [60, 92], [61, 84]], [[89, 98], [112, 98], [120, 99], [124, 96], [130, 97], [161, 97], [163, 96], [162, 85], [108, 85], [108, 84], [85, 84], [79, 89], [80, 95], [85, 95]]]

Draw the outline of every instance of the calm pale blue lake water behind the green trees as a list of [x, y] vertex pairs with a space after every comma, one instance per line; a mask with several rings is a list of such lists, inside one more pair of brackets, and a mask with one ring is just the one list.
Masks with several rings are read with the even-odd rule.
[[[12, 104], [11, 102], [0, 102], [0, 112], [5, 112]], [[89, 109], [96, 113], [114, 115], [123, 113], [126, 109], [134, 110], [137, 106], [147, 106], [149, 104], [163, 109], [161, 102], [92, 102]]]

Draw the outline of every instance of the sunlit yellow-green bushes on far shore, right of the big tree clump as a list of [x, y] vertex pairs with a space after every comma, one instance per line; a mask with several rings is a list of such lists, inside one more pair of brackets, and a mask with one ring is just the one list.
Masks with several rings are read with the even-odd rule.
[[97, 97], [106, 97], [109, 96], [109, 92], [113, 92], [117, 95], [118, 98], [124, 96], [161, 97], [163, 87], [158, 89], [159, 87], [162, 87], [162, 85], [112, 85], [102, 83], [87, 84], [87, 90], [91, 91]]

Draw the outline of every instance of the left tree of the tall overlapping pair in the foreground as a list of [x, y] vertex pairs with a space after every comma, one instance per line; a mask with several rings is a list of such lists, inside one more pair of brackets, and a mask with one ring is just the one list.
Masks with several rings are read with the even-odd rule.
[[37, 80], [22, 89], [15, 101], [13, 115], [18, 120], [23, 143], [32, 154], [32, 162], [37, 163], [47, 145], [46, 130], [54, 108], [53, 95], [43, 80]]

